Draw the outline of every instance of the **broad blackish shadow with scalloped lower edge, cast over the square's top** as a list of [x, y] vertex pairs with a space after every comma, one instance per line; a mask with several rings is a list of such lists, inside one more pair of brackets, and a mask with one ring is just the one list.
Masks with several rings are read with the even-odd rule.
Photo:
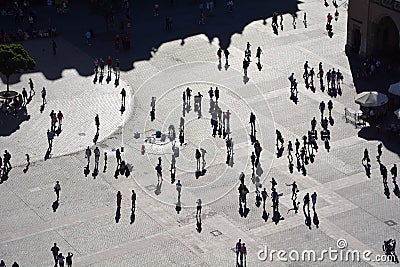
[[[150, 60], [153, 56], [152, 54], [152, 52], [154, 52], [153, 50], [157, 50], [163, 43], [176, 40], [183, 40], [184, 43], [184, 40], [186, 38], [196, 36], [199, 34], [205, 34], [208, 37], [210, 43], [214, 38], [218, 38], [221, 47], [223, 48], [229, 47], [232, 35], [235, 33], [241, 34], [244, 28], [250, 23], [260, 20], [260, 23], [262, 24], [262, 20], [271, 17], [274, 12], [283, 14], [297, 12], [299, 10], [298, 4], [302, 3], [301, 1], [298, 0], [290, 0], [278, 3], [270, 3], [262, 0], [249, 0], [246, 1], [245, 3], [242, 2], [235, 3], [235, 11], [233, 13], [229, 13], [228, 11], [226, 11], [226, 6], [223, 3], [222, 4], [218, 3], [216, 6], [216, 13], [218, 13], [217, 16], [207, 17], [207, 20], [209, 20], [210, 23], [202, 25], [205, 27], [200, 27], [196, 25], [197, 24], [196, 19], [198, 17], [197, 16], [198, 7], [191, 6], [193, 7], [193, 9], [189, 10], [188, 5], [179, 3], [179, 1], [176, 2], [178, 3], [175, 3], [174, 7], [168, 7], [168, 6], [165, 7], [165, 10], [163, 10], [163, 12], [161, 13], [160, 18], [157, 18], [158, 21], [152, 20], [149, 23], [150, 18], [153, 19], [152, 16], [153, 2], [144, 3], [142, 1], [134, 1], [134, 3], [131, 5], [131, 8], [133, 10], [132, 17], [136, 18], [135, 21], [136, 26], [133, 27], [131, 31], [131, 36], [141, 36], [141, 39], [140, 41], [138, 41], [138, 43], [134, 42], [133, 48], [129, 50], [121, 50], [118, 52], [118, 58], [120, 59], [122, 71], [132, 70], [134, 68], [133, 64], [135, 62], [142, 60]], [[182, 6], [180, 6], [181, 4]], [[37, 6], [35, 8], [36, 10], [39, 11], [39, 13], [42, 11], [44, 12], [44, 14], [46, 14], [46, 12], [47, 13], [50, 12], [47, 6]], [[91, 19], [94, 20], [93, 22], [91, 22], [92, 24], [104, 25], [103, 30], [101, 29], [97, 30], [98, 31], [97, 35], [99, 36], [104, 35], [102, 39], [105, 39], [105, 41], [110, 41], [110, 42], [105, 43], [104, 41], [99, 41], [89, 49], [87, 44], [82, 41], [83, 37], [77, 38], [76, 34], [76, 32], [78, 31], [82, 33], [81, 35], [84, 35], [84, 32], [87, 31], [87, 29], [86, 28], [82, 29], [83, 26], [81, 23], [74, 22], [76, 20], [74, 19], [76, 18], [76, 16], [71, 16], [70, 14], [65, 16], [57, 16], [53, 18], [56, 21], [54, 23], [57, 24], [58, 27], [57, 29], [59, 29], [60, 32], [60, 37], [55, 38], [56, 42], [57, 40], [63, 39], [65, 40], [65, 42], [72, 45], [74, 49], [86, 53], [91, 59], [100, 57], [103, 57], [105, 59], [107, 57], [107, 54], [103, 54], [104, 53], [103, 51], [112, 51], [114, 49], [112, 40], [116, 32], [106, 31], [104, 17], [101, 16], [100, 14], [92, 14], [93, 11], [88, 5], [88, 3], [82, 3], [82, 2], [73, 3], [71, 4], [70, 9], [71, 12], [78, 13], [76, 15], [81, 14], [86, 16], [87, 14], [90, 14]], [[135, 14], [136, 12], [138, 12], [138, 10], [140, 11], [140, 13]], [[50, 14], [54, 16], [54, 14], [52, 13]], [[178, 22], [183, 23], [185, 21], [193, 21], [193, 25], [189, 24], [189, 27], [185, 29], [173, 28], [172, 31], [166, 32], [164, 29], [163, 15], [172, 16], [174, 18], [174, 24], [177, 24]], [[117, 14], [117, 16], [121, 17], [122, 14]], [[116, 20], [119, 21], [119, 19]], [[71, 25], [75, 26], [71, 27]], [[218, 25], [218, 27], [212, 27], [212, 25]], [[221, 25], [228, 25], [228, 26], [221, 26]], [[160, 34], [151, 34], [151, 31], [149, 31], [149, 29], [152, 26], [157, 27], [157, 30], [160, 30]], [[196, 26], [197, 28], [193, 30], [193, 27], [190, 26]], [[270, 25], [266, 26], [270, 27]], [[81, 28], [81, 30], [80, 31], [77, 30], [76, 29], [77, 27]], [[96, 38], [94, 38], [94, 42], [97, 42]], [[131, 39], [134, 38], [135, 37]], [[25, 49], [27, 49], [28, 52], [31, 54], [31, 56], [34, 57], [35, 60], [37, 61], [36, 69], [34, 71], [29, 71], [26, 73], [37, 73], [37, 72], [43, 73], [44, 76], [49, 80], [57, 80], [61, 78], [62, 71], [65, 69], [76, 69], [81, 76], [93, 75], [92, 61], [87, 62], [87, 64], [81, 64], [82, 62], [76, 62], [75, 64], [73, 60], [72, 62], [71, 60], [68, 60], [68, 58], [70, 58], [71, 55], [69, 53], [65, 53], [65, 51], [63, 53], [63, 51], [61, 51], [60, 45], [58, 44], [57, 46], [59, 51], [57, 52], [57, 57], [58, 58], [66, 57], [67, 60], [59, 60], [57, 66], [52, 66], [51, 68], [49, 68], [49, 63], [42, 62], [41, 57], [43, 57], [43, 52], [45, 50], [49, 51], [48, 53], [50, 53], [51, 40], [50, 39], [45, 40], [49, 42], [48, 47], [38, 49], [37, 43], [40, 42], [41, 40], [29, 40], [22, 43]], [[110, 52], [110, 54], [111, 55], [115, 54], [115, 51]], [[53, 55], [48, 55], [48, 56], [50, 57]], [[114, 58], [116, 57], [115, 55], [113, 56]], [[79, 65], [77, 63], [79, 63]], [[20, 82], [21, 76], [26, 73], [12, 75], [10, 77], [10, 85]], [[4, 76], [0, 75], [0, 78], [2, 79], [3, 83], [5, 83]]]

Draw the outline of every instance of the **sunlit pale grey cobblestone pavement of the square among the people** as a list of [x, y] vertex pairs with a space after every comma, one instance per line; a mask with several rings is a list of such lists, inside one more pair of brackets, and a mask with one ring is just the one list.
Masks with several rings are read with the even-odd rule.
[[[342, 1], [340, 1], [342, 2]], [[274, 261], [260, 261], [257, 252], [337, 249], [337, 240], [345, 239], [351, 250], [370, 250], [372, 257], [383, 254], [383, 240], [397, 238], [399, 234], [399, 199], [392, 193], [384, 195], [379, 164], [375, 160], [376, 141], [358, 137], [359, 129], [347, 124], [343, 118], [345, 107], [357, 110], [349, 63], [344, 53], [346, 38], [346, 10], [339, 8], [340, 19], [334, 22], [335, 34], [330, 39], [325, 33], [325, 16], [331, 9], [323, 9], [321, 1], [299, 3], [297, 28], [293, 29], [290, 14], [284, 14], [284, 31], [279, 35], [262, 20], [247, 25], [242, 34], [231, 38], [230, 66], [219, 69], [216, 60], [218, 40], [209, 43], [204, 35], [164, 43], [148, 61], [134, 63], [134, 69], [121, 73], [120, 84], [93, 84], [94, 76], [82, 77], [67, 69], [61, 79], [46, 80], [39, 73], [24, 74], [15, 88], [27, 86], [32, 77], [37, 87], [48, 88], [48, 105], [40, 113], [37, 95], [28, 105], [31, 118], [9, 136], [0, 137], [0, 150], [8, 149], [13, 169], [9, 179], [0, 185], [0, 258], [9, 265], [14, 260], [20, 266], [52, 266], [50, 248], [54, 242], [63, 254], [74, 253], [74, 266], [233, 266], [234, 246], [239, 238], [247, 246], [247, 266], [381, 266], [377, 262], [332, 261], [282, 262], [276, 254]], [[322, 12], [322, 11], [323, 12]], [[307, 12], [308, 25], [300, 21]], [[252, 50], [263, 48], [262, 71], [252, 62], [244, 79], [242, 59], [247, 41]], [[38, 41], [41, 42], [41, 41]], [[74, 54], [82, 62], [91, 64], [85, 51], [58, 39], [64, 56]], [[41, 44], [41, 43], [39, 43]], [[33, 49], [33, 48], [32, 48]], [[105, 57], [105, 55], [102, 55]], [[52, 58], [48, 58], [52, 62]], [[253, 59], [255, 61], [256, 59]], [[330, 97], [317, 89], [307, 90], [302, 83], [303, 64], [308, 60], [314, 68], [321, 61], [324, 69], [340, 69], [344, 74], [343, 94], [333, 98], [331, 150], [327, 152], [318, 140], [320, 149], [314, 163], [306, 166], [303, 176], [288, 170], [286, 150], [277, 158], [275, 128], [284, 138], [301, 138], [310, 128], [313, 116], [319, 116], [318, 105]], [[295, 72], [299, 81], [299, 102], [290, 99], [287, 77]], [[212, 137], [210, 127], [210, 87], [220, 89], [220, 107], [231, 115], [234, 142], [233, 165], [225, 164], [225, 141]], [[121, 115], [120, 90], [128, 89], [127, 110]], [[171, 183], [169, 166], [172, 142], [164, 145], [149, 144], [144, 139], [156, 130], [168, 131], [169, 125], [179, 127], [183, 116], [182, 92], [186, 87], [193, 94], [201, 92], [202, 116], [198, 118], [194, 107], [185, 114], [186, 144], [180, 147], [176, 158], [176, 180], [183, 185], [182, 197], [177, 199], [175, 184]], [[156, 120], [150, 121], [151, 97], [156, 97]], [[192, 99], [193, 105], [193, 99]], [[55, 138], [52, 157], [44, 161], [46, 130], [50, 110], [62, 110], [65, 116], [63, 131]], [[249, 156], [249, 114], [257, 116], [257, 138], [263, 147], [261, 169], [257, 170], [263, 186], [268, 190], [272, 177], [278, 182], [280, 211], [283, 221], [275, 224], [271, 217], [263, 219], [262, 207], [254, 205], [255, 192], [251, 177]], [[99, 114], [101, 128], [98, 146], [101, 149], [99, 173], [85, 175], [84, 148], [93, 145], [94, 116]], [[318, 126], [318, 130], [320, 130]], [[140, 138], [134, 133], [139, 132]], [[177, 131], [178, 135], [178, 131]], [[146, 152], [141, 154], [145, 144]], [[178, 142], [176, 143], [178, 145]], [[131, 176], [114, 178], [117, 168], [114, 151], [124, 147], [123, 159], [133, 166]], [[196, 179], [195, 148], [207, 153], [204, 176]], [[362, 153], [368, 148], [372, 158], [371, 178], [361, 165]], [[108, 154], [104, 163], [104, 152]], [[25, 154], [32, 163], [27, 171]], [[157, 182], [154, 167], [162, 159], [164, 180]], [[382, 162], [390, 168], [398, 156], [384, 149]], [[93, 161], [93, 160], [92, 160]], [[103, 172], [104, 170], [104, 172]], [[246, 217], [238, 212], [237, 186], [240, 172], [246, 174], [250, 188]], [[53, 211], [53, 186], [60, 181], [59, 207]], [[316, 211], [319, 228], [311, 229], [304, 216], [289, 213], [292, 207], [291, 190], [285, 184], [296, 180], [300, 201], [306, 192], [318, 193]], [[135, 213], [131, 212], [130, 194], [138, 195]], [[116, 213], [117, 191], [122, 193], [120, 219]], [[196, 230], [196, 200], [201, 198], [202, 229]], [[270, 203], [270, 200], [269, 202]], [[176, 206], [181, 206], [179, 214]], [[267, 206], [272, 213], [272, 209]], [[118, 223], [116, 223], [118, 221]]]

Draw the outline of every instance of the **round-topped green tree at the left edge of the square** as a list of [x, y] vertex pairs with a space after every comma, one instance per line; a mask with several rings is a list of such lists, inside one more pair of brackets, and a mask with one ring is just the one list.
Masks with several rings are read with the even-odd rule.
[[12, 74], [21, 70], [32, 70], [36, 62], [20, 44], [0, 45], [0, 72], [6, 76], [7, 92], [9, 91], [9, 79]]

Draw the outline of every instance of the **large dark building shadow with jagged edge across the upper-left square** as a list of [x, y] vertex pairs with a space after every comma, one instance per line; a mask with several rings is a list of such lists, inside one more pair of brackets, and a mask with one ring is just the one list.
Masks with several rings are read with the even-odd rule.
[[[199, 25], [198, 2], [200, 1], [175, 0], [173, 1], [174, 5], [170, 4], [170, 0], [159, 1], [159, 16], [153, 16], [154, 1], [130, 2], [132, 10], [131, 48], [120, 49], [118, 52], [114, 49], [114, 38], [119, 32], [121, 19], [125, 19], [125, 13], [121, 7], [114, 7], [116, 9], [115, 27], [107, 29], [104, 12], [94, 11], [86, 1], [73, 1], [69, 14], [64, 15], [57, 14], [55, 7], [43, 6], [43, 4], [34, 5], [32, 9], [38, 16], [37, 27], [47, 28], [49, 25], [55, 25], [60, 33], [59, 37], [55, 39], [56, 42], [62, 43], [65, 40], [70, 45], [68, 53], [63, 53], [63, 45], [59, 44], [57, 59], [55, 59], [51, 55], [50, 39], [22, 42], [37, 61], [34, 72], [42, 72], [47, 79], [51, 80], [61, 78], [62, 71], [70, 68], [76, 69], [82, 76], [92, 75], [92, 63], [85, 61], [87, 59], [79, 58], [79, 56], [74, 57], [74, 51], [84, 51], [92, 59], [106, 58], [108, 55], [119, 58], [121, 70], [127, 71], [133, 68], [134, 62], [149, 60], [152, 57], [152, 51], [156, 51], [163, 43], [182, 40], [181, 45], [184, 45], [186, 38], [198, 34], [205, 34], [210, 42], [214, 38], [218, 38], [221, 47], [229, 47], [232, 35], [242, 33], [249, 23], [267, 19], [274, 12], [283, 14], [297, 12], [297, 6], [300, 3], [297, 0], [235, 1], [234, 11], [228, 12], [226, 1], [216, 1], [215, 15], [206, 15], [206, 24]], [[165, 29], [166, 16], [173, 18], [171, 31]], [[6, 31], [15, 32], [19, 27], [29, 28], [27, 23], [15, 23], [12, 16], [0, 16], [0, 25]], [[266, 27], [271, 28], [271, 25], [266, 25]], [[89, 29], [92, 29], [95, 34], [92, 46], [88, 46], [85, 41], [85, 33]], [[4, 77], [2, 79], [4, 81]], [[11, 83], [18, 81], [18, 75], [11, 77]]]

